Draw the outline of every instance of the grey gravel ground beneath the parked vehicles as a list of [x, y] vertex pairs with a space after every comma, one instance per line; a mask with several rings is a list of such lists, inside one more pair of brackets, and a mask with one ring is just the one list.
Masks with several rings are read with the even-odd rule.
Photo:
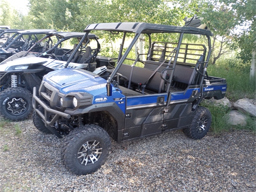
[[[21, 130], [21, 133], [17, 133]], [[60, 162], [62, 139], [32, 120], [0, 129], [0, 191], [256, 191], [255, 135], [208, 133], [200, 140], [171, 131], [118, 145], [93, 174], [76, 176]]]

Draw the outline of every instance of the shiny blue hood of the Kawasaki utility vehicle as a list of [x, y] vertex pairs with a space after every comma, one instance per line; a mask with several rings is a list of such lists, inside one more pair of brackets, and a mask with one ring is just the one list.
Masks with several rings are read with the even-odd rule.
[[107, 81], [97, 74], [83, 69], [61, 69], [49, 72], [43, 79], [61, 93], [87, 92], [92, 95], [106, 93]]

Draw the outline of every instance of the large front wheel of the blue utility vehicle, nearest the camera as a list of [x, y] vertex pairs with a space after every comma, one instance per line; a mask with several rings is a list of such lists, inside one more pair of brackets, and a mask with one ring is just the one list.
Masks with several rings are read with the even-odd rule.
[[108, 133], [98, 125], [84, 125], [71, 131], [61, 149], [65, 167], [77, 175], [98, 170], [106, 161], [111, 149]]

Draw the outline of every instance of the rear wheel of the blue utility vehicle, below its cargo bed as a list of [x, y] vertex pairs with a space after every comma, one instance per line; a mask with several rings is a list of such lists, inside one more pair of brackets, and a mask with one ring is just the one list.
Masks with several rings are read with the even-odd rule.
[[211, 123], [211, 112], [207, 108], [198, 107], [190, 127], [183, 129], [183, 133], [191, 139], [202, 139], [209, 131]]

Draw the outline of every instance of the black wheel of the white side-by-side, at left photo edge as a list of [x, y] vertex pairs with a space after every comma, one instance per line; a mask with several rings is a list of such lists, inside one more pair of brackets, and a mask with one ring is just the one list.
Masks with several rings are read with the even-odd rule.
[[22, 121], [32, 112], [32, 94], [21, 87], [10, 87], [0, 93], [0, 115], [6, 120]]

